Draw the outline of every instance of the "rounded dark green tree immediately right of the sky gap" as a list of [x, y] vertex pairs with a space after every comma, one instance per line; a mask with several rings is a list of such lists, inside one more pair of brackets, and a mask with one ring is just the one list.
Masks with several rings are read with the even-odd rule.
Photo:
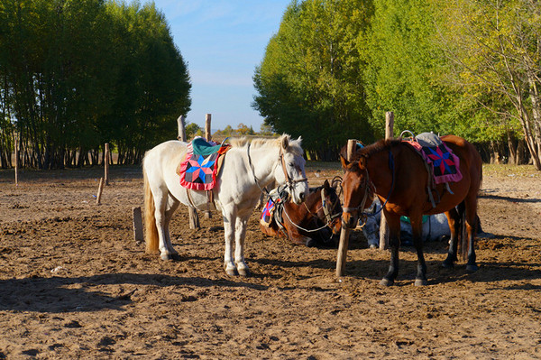
[[254, 75], [253, 107], [265, 125], [302, 135], [304, 147], [327, 160], [348, 138], [372, 137], [356, 47], [370, 14], [361, 0], [289, 5]]

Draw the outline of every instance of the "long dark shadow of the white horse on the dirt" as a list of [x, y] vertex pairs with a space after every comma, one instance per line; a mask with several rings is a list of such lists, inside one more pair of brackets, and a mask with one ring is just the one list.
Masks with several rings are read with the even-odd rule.
[[[72, 285], [80, 284], [77, 288]], [[90, 290], [97, 285], [192, 285], [200, 288], [213, 286], [250, 288], [259, 291], [268, 286], [249, 282], [179, 277], [163, 274], [107, 273], [89, 277], [51, 277], [0, 280], [0, 311], [35, 311], [42, 313], [91, 312], [100, 309], [121, 310], [133, 303], [135, 291], [112, 295]]]

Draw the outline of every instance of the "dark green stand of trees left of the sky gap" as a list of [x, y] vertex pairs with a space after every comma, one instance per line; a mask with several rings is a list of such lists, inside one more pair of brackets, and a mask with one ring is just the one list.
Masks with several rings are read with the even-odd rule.
[[0, 78], [0, 149], [14, 126], [40, 168], [80, 165], [106, 142], [138, 162], [190, 106], [186, 63], [153, 4], [5, 0]]

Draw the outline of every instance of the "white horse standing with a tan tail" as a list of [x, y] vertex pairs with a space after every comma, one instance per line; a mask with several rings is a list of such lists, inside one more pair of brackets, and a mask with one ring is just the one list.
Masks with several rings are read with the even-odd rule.
[[[249, 275], [244, 263], [246, 224], [257, 204], [261, 189], [276, 181], [287, 184], [295, 203], [308, 193], [300, 137], [278, 139], [231, 139], [224, 164], [216, 176], [213, 196], [215, 207], [222, 211], [225, 229], [224, 267], [229, 275]], [[187, 190], [176, 173], [184, 159], [188, 143], [169, 141], [148, 151], [142, 162], [145, 203], [145, 241], [149, 253], [160, 250], [163, 260], [179, 259], [171, 245], [169, 224], [179, 203], [206, 209], [206, 191]], [[235, 250], [233, 257], [233, 241]]]

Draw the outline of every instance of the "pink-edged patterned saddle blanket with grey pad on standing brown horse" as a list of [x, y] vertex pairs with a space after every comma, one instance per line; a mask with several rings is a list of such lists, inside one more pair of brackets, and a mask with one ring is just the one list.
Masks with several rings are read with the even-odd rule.
[[436, 134], [418, 134], [415, 140], [406, 140], [406, 143], [413, 146], [431, 166], [436, 184], [462, 180], [458, 156]]

